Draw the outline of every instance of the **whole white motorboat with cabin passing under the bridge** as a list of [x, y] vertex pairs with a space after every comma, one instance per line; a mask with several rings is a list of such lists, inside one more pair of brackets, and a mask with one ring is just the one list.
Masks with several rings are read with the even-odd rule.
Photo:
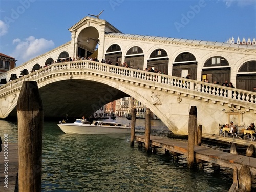
[[59, 122], [60, 129], [68, 134], [113, 134], [131, 133], [131, 127], [124, 124], [109, 121], [93, 121], [92, 124], [82, 119], [76, 119], [74, 123]]

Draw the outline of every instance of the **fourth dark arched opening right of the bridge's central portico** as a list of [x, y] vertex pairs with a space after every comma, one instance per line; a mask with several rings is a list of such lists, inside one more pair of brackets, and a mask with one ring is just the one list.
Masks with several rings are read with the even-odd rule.
[[190, 74], [191, 79], [197, 79], [197, 60], [193, 54], [183, 52], [175, 58], [173, 76], [186, 77], [188, 74]]

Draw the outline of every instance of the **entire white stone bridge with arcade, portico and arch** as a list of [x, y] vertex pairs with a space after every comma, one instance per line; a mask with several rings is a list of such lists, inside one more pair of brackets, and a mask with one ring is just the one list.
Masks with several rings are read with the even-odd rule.
[[[110, 101], [132, 96], [177, 134], [187, 133], [193, 105], [204, 133], [218, 133], [219, 123], [230, 120], [237, 125], [255, 120], [255, 92], [250, 92], [256, 86], [255, 39], [223, 43], [124, 34], [91, 17], [69, 31], [71, 41], [0, 75], [1, 82], [8, 82], [0, 87], [0, 118], [16, 116], [22, 82], [32, 80], [38, 83], [45, 118], [91, 115]], [[78, 56], [100, 62], [61, 62]], [[133, 68], [115, 66], [123, 62]], [[165, 74], [143, 71], [148, 67]], [[182, 78], [188, 73], [191, 79]], [[203, 79], [220, 84], [227, 80], [239, 89]]]

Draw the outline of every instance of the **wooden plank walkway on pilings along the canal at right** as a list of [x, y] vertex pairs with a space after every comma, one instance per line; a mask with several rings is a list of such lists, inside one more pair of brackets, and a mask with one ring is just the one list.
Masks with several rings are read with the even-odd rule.
[[[135, 139], [137, 142], [145, 143], [144, 135], [136, 135]], [[175, 141], [172, 139], [165, 139], [158, 136], [150, 136], [150, 143], [152, 146], [164, 148], [169, 151], [173, 151], [182, 155], [188, 153], [188, 143], [182, 141]], [[195, 158], [204, 160], [206, 162], [216, 163], [223, 167], [234, 168], [238, 170], [243, 165], [248, 165], [252, 175], [256, 175], [256, 158], [247, 157], [243, 155], [235, 155], [220, 150], [214, 150], [202, 146], [195, 146]]]

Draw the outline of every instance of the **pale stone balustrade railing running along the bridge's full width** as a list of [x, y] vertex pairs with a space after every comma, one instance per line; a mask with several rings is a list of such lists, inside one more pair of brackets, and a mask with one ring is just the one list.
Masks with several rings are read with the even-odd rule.
[[[150, 82], [152, 83], [159, 83], [165, 86], [170, 86], [175, 88], [181, 88], [190, 91], [196, 91], [203, 94], [208, 94], [211, 96], [217, 96], [220, 98], [229, 98], [232, 100], [236, 100], [239, 102], [247, 102], [247, 103], [255, 103], [256, 102], [256, 93], [219, 86], [212, 83], [206, 83], [196, 80], [190, 80], [186, 78], [176, 77], [176, 76], [169, 76], [163, 75], [159, 73], [153, 73], [148, 71], [136, 70], [131, 68], [125, 68], [120, 66], [108, 65], [105, 63], [99, 63], [89, 60], [80, 60], [80, 61], [73, 61], [73, 62], [65, 62], [65, 63], [56, 63], [52, 64], [48, 67], [42, 68], [36, 72], [30, 73], [22, 78], [16, 79], [11, 81], [4, 86], [0, 87], [0, 97], [3, 97], [3, 94], [9, 92], [17, 87], [22, 86], [23, 81], [36, 81], [40, 79], [42, 76], [47, 75], [49, 73], [66, 73], [66, 72], [73, 72], [72, 70], [77, 71], [77, 69], [87, 69], [88, 71], [95, 71], [104, 75], [122, 75], [129, 78], [133, 78], [134, 80]], [[113, 74], [113, 75], [111, 75]]]

